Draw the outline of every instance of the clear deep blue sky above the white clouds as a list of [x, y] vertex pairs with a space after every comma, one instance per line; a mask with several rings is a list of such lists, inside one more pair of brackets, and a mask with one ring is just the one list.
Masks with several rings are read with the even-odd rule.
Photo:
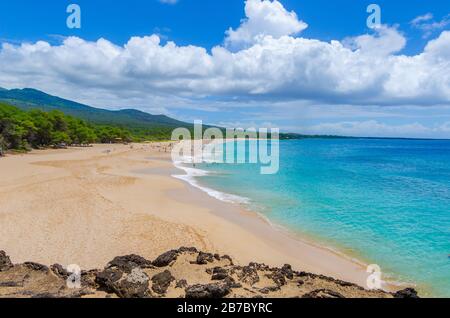
[[[81, 30], [66, 27], [66, 8], [76, 3], [82, 8]], [[450, 13], [441, 0], [284, 0], [311, 27], [305, 37], [329, 41], [367, 32], [366, 8], [377, 3], [382, 21], [399, 24], [410, 42], [406, 53], [417, 53], [427, 43], [410, 21], [433, 13], [440, 20]], [[244, 17], [243, 0], [179, 0], [175, 5], [159, 0], [15, 0], [0, 3], [0, 35], [3, 40], [55, 41], [53, 35], [76, 35], [86, 40], [107, 38], [124, 44], [131, 36], [162, 33], [178, 45], [211, 48], [220, 44], [229, 27], [238, 27]], [[25, 22], [25, 23], [24, 23]]]

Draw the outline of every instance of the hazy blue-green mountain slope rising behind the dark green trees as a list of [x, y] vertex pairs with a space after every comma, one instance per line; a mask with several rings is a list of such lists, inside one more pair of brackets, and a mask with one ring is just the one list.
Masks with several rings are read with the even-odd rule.
[[151, 115], [134, 109], [110, 111], [94, 108], [31, 88], [11, 90], [0, 88], [0, 101], [23, 110], [59, 110], [66, 115], [81, 118], [95, 124], [120, 126], [130, 130], [149, 130], [151, 132], [153, 129], [190, 128], [192, 126], [164, 115]]

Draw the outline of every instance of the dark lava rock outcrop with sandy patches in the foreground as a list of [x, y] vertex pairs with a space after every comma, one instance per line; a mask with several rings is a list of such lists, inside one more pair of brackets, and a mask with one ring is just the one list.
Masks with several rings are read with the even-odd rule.
[[0, 251], [0, 297], [65, 298], [417, 298], [408, 288], [369, 291], [330, 277], [296, 272], [290, 265], [238, 266], [229, 256], [180, 248], [154, 261], [138, 255], [114, 258], [101, 270], [79, 277], [64, 266], [13, 265]]

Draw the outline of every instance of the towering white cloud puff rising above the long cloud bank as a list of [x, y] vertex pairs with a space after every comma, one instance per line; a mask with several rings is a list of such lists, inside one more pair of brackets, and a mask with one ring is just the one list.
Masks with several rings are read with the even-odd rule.
[[245, 16], [236, 30], [229, 29], [225, 45], [242, 48], [259, 42], [265, 36], [280, 38], [296, 35], [308, 27], [293, 11], [287, 11], [278, 0], [246, 0]]

